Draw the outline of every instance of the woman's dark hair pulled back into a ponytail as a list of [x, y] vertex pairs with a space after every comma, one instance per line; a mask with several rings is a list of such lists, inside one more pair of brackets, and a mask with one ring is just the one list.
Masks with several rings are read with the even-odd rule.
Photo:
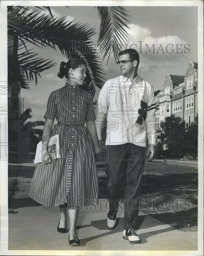
[[60, 67], [59, 67], [59, 72], [57, 74], [57, 76], [59, 78], [63, 78], [64, 76], [68, 79], [68, 72], [69, 69], [76, 69], [79, 68], [82, 64], [84, 64], [86, 66], [86, 62], [82, 59], [82, 58], [72, 58], [70, 59], [67, 63], [62, 61], [60, 63]]

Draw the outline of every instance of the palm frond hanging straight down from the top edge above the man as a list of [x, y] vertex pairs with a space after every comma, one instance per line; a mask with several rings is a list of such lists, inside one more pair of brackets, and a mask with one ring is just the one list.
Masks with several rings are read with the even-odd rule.
[[[123, 46], [123, 40], [127, 40], [128, 33], [123, 28], [129, 28], [125, 22], [129, 22], [127, 10], [123, 6], [97, 6], [101, 20], [97, 44], [100, 44], [103, 51], [102, 61], [110, 52], [113, 52], [116, 61], [118, 60], [118, 46]], [[108, 63], [108, 61], [107, 61]]]

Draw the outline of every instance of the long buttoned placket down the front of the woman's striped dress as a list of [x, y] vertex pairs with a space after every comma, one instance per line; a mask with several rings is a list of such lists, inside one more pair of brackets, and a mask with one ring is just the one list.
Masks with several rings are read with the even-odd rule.
[[[76, 89], [72, 88], [70, 92], [71, 106], [70, 106], [70, 124], [76, 124]], [[73, 168], [73, 156], [75, 147], [75, 136], [76, 136], [76, 126], [69, 126], [70, 136], [69, 136], [69, 159], [67, 163], [67, 179], [66, 179], [66, 192], [70, 190], [72, 168]], [[67, 193], [66, 193], [67, 194]]]

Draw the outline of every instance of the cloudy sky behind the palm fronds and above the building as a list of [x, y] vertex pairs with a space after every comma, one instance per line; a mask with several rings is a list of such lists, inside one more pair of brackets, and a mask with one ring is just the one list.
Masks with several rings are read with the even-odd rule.
[[[130, 2], [131, 3], [131, 2]], [[35, 9], [35, 7], [31, 7]], [[67, 20], [87, 23], [94, 27], [96, 34], [92, 40], [96, 43], [100, 20], [98, 11], [94, 6], [65, 6], [50, 7], [53, 15]], [[198, 61], [198, 9], [195, 6], [126, 6], [129, 12], [127, 23], [130, 29], [126, 29], [129, 39], [126, 44], [137, 49], [140, 56], [138, 74], [150, 82], [154, 90], [161, 90], [167, 73], [185, 75], [190, 59]], [[42, 11], [42, 13], [47, 12]], [[91, 14], [91, 15], [90, 15]], [[154, 45], [151, 50], [152, 45]], [[24, 110], [32, 109], [30, 120], [43, 120], [46, 111], [47, 100], [50, 93], [65, 85], [66, 79], [57, 77], [59, 64], [67, 61], [58, 50], [50, 48], [32, 48], [43, 57], [57, 62], [57, 65], [41, 73], [37, 86], [30, 83], [30, 90], [21, 90], [24, 97]], [[128, 47], [129, 48], [129, 47]], [[120, 75], [113, 54], [108, 65], [104, 60], [105, 80]], [[97, 100], [100, 89], [96, 88], [94, 100]]]

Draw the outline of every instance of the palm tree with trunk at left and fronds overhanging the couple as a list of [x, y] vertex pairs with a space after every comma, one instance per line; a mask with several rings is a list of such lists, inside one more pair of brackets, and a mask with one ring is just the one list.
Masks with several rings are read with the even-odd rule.
[[[95, 86], [101, 88], [104, 84], [105, 74], [100, 58], [104, 60], [113, 50], [117, 60], [117, 46], [122, 44], [120, 37], [123, 40], [127, 38], [123, 26], [127, 27], [125, 22], [129, 16], [122, 6], [97, 7], [101, 20], [97, 43], [103, 47], [102, 56], [97, 48], [91, 47], [94, 44], [91, 38], [96, 33], [94, 28], [88, 24], [67, 22], [66, 17], [55, 18], [48, 6], [44, 8], [49, 10], [48, 15], [23, 6], [8, 6], [7, 9], [9, 129], [13, 121], [18, 122], [21, 118], [18, 116], [20, 90], [30, 89], [30, 81], [37, 84], [40, 73], [56, 64], [40, 57], [29, 48], [31, 45], [59, 49], [67, 59], [83, 58], [87, 65], [85, 87], [94, 96]], [[8, 135], [9, 142], [16, 142], [17, 137], [12, 137], [10, 131]]]

